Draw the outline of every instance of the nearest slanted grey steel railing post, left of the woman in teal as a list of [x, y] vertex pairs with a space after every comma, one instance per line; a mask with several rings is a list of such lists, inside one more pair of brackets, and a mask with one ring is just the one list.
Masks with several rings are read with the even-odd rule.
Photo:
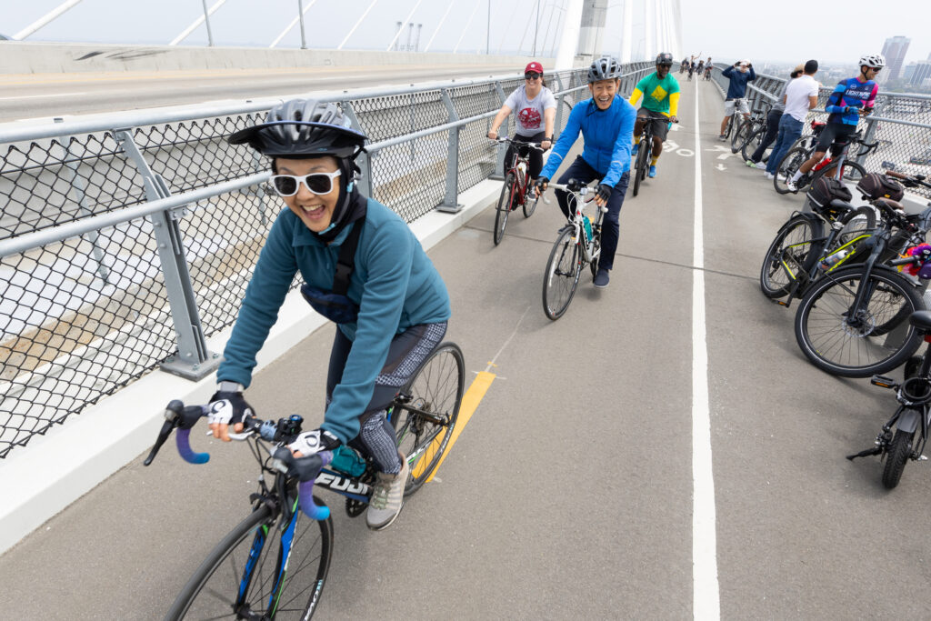
[[[115, 129], [114, 137], [128, 158], [135, 164], [145, 185], [145, 196], [158, 200], [171, 196], [161, 175], [149, 168], [139, 145], [132, 139], [130, 129]], [[149, 216], [155, 233], [155, 244], [165, 277], [171, 319], [178, 341], [178, 353], [161, 364], [163, 371], [189, 380], [200, 380], [220, 366], [220, 356], [207, 349], [207, 339], [197, 312], [194, 287], [184, 255], [184, 243], [178, 221], [186, 209], [166, 209]]]

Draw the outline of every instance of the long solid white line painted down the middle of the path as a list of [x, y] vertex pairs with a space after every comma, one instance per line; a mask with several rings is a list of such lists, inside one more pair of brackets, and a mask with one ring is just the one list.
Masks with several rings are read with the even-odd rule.
[[711, 461], [711, 415], [708, 403], [708, 344], [705, 331], [705, 248], [701, 202], [701, 130], [695, 87], [695, 238], [692, 271], [692, 614], [721, 618], [718, 540]]

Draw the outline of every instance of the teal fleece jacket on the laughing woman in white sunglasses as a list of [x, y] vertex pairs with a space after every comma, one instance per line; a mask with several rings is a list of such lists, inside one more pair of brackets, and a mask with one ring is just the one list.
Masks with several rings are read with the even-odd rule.
[[[311, 286], [331, 290], [340, 245], [353, 226], [356, 223], [326, 245], [290, 209], [278, 215], [223, 350], [218, 381], [250, 385], [255, 356], [275, 324], [294, 276], [300, 272]], [[352, 350], [320, 425], [344, 443], [358, 436], [358, 416], [371, 401], [391, 340], [412, 326], [450, 317], [446, 285], [407, 223], [369, 198], [364, 226], [347, 291], [359, 305], [358, 322], [339, 326], [353, 342]], [[326, 366], [326, 360], [318, 365]]]

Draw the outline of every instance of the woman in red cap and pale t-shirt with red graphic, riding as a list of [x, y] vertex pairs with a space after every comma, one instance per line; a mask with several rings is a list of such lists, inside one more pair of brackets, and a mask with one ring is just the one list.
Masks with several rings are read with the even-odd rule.
[[[507, 98], [501, 110], [494, 116], [492, 129], [488, 137], [492, 140], [498, 138], [498, 128], [505, 122], [507, 115], [516, 111], [517, 133], [512, 137], [516, 142], [539, 142], [544, 150], [553, 142], [553, 125], [556, 122], [556, 98], [553, 92], [546, 88], [543, 79], [543, 66], [536, 61], [529, 62], [524, 68], [524, 84], [514, 89]], [[535, 180], [543, 169], [543, 154], [536, 149], [530, 152], [530, 178]], [[514, 156], [514, 145], [508, 145], [505, 155], [505, 166], [510, 166]], [[532, 187], [533, 182], [527, 184]]]

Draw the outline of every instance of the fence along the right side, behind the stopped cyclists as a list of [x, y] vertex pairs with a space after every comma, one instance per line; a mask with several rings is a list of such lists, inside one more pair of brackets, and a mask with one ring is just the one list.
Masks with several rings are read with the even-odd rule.
[[[722, 75], [726, 68], [726, 65], [715, 64], [711, 73], [722, 94], [727, 92], [728, 86], [728, 78]], [[787, 79], [788, 76], [757, 74], [757, 79], [750, 82], [747, 89], [750, 108], [761, 108], [763, 101], [776, 101]], [[833, 84], [819, 89], [816, 110], [808, 115], [803, 133], [812, 132], [813, 122], [828, 120], [824, 108], [833, 90]], [[860, 120], [858, 129], [865, 142], [879, 142], [869, 155], [857, 159], [867, 172], [896, 170], [905, 174], [931, 175], [931, 96], [884, 93], [880, 88], [872, 114]], [[927, 188], [909, 191], [931, 198], [931, 190]]]

